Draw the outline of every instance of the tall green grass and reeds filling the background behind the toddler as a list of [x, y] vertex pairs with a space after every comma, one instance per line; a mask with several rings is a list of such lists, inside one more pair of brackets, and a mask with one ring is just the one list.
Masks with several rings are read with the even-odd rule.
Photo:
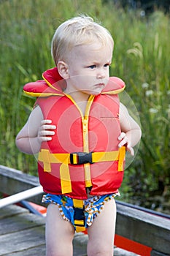
[[[0, 1], [0, 164], [36, 174], [36, 160], [18, 151], [15, 136], [34, 105], [23, 85], [54, 66], [50, 42], [60, 23], [79, 13], [100, 20], [115, 39], [111, 75], [123, 78], [142, 125], [142, 142], [125, 170], [123, 200], [168, 197], [170, 170], [169, 16], [116, 9], [112, 1]], [[133, 112], [133, 109], [131, 109]]]

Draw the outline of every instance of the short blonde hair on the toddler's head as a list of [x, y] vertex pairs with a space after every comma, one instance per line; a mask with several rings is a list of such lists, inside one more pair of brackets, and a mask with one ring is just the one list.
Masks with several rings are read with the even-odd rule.
[[51, 54], [55, 64], [64, 60], [66, 54], [77, 45], [86, 45], [98, 40], [102, 45], [114, 45], [111, 34], [104, 26], [88, 16], [79, 16], [66, 20], [56, 29], [51, 44]]

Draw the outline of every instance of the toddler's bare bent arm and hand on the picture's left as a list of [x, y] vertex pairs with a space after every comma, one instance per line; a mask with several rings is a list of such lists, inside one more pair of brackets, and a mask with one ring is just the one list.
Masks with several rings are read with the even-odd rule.
[[28, 121], [16, 137], [16, 145], [26, 154], [39, 152], [42, 141], [52, 140], [56, 129], [51, 120], [43, 120], [42, 110], [38, 107], [31, 112]]

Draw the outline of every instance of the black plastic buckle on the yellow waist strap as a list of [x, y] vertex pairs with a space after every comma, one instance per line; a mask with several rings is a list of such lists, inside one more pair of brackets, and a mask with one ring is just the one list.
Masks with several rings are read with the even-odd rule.
[[[76, 154], [77, 161], [74, 162], [74, 154]], [[72, 165], [82, 165], [86, 163], [93, 164], [92, 162], [92, 152], [86, 153], [86, 152], [74, 152], [70, 154], [70, 163]]]

